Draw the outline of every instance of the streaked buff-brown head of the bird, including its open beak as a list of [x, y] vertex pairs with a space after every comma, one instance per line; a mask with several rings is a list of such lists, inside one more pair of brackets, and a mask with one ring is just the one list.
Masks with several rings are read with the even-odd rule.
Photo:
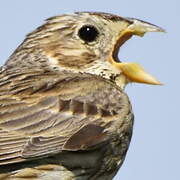
[[78, 12], [49, 18], [27, 36], [19, 51], [38, 49], [52, 70], [96, 74], [122, 88], [128, 82], [158, 85], [160, 82], [140, 65], [118, 58], [120, 47], [133, 35], [155, 31], [164, 30], [138, 19]]

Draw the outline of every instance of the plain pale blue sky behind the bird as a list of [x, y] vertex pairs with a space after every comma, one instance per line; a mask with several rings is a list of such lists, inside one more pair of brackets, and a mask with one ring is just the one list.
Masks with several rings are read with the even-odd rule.
[[[180, 1], [179, 0], [6, 0], [0, 1], [0, 63], [44, 19], [74, 11], [104, 11], [159, 25], [167, 33], [134, 37], [122, 61], [138, 62], [164, 86], [126, 88], [134, 113], [134, 134], [115, 180], [180, 179]], [[178, 112], [179, 111], [179, 112]]]

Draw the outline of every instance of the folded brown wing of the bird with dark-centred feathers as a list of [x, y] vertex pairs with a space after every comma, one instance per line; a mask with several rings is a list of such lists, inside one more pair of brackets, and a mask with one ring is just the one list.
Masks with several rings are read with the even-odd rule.
[[109, 140], [105, 126], [128, 111], [124, 93], [102, 79], [81, 75], [48, 83], [1, 96], [0, 165], [93, 148]]

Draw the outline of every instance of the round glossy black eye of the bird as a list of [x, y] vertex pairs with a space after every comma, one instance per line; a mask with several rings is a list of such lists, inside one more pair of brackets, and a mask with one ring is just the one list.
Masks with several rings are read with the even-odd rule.
[[86, 25], [79, 30], [78, 35], [83, 41], [88, 43], [95, 41], [99, 32], [94, 26]]

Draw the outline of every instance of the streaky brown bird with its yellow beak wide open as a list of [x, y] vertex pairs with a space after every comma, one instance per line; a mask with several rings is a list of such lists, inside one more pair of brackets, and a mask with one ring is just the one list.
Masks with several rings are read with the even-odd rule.
[[127, 40], [146, 32], [164, 29], [75, 12], [26, 36], [0, 69], [0, 179], [113, 179], [133, 132], [126, 85], [161, 84], [118, 57]]

